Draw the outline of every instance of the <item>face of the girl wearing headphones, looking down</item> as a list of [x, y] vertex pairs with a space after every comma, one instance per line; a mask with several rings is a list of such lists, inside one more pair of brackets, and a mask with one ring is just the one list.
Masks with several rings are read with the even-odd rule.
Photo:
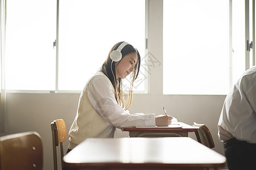
[[117, 78], [124, 79], [127, 75], [133, 72], [135, 65], [138, 62], [137, 53], [129, 53], [119, 62], [115, 62], [115, 75]]

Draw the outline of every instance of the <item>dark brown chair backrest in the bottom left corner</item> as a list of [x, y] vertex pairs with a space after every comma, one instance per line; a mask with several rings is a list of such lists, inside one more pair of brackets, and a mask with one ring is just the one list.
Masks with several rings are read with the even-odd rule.
[[29, 131], [0, 137], [0, 169], [43, 169], [40, 135]]

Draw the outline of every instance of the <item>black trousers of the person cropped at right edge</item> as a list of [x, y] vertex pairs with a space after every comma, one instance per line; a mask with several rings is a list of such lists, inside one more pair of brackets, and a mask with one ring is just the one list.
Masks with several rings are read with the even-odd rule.
[[235, 138], [224, 142], [225, 157], [229, 170], [256, 170], [256, 144]]

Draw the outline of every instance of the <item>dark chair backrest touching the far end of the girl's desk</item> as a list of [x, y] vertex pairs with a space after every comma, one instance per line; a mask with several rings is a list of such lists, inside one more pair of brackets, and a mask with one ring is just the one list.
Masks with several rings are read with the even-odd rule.
[[209, 148], [213, 148], [215, 146], [212, 134], [210, 134], [210, 130], [207, 128], [207, 126], [205, 126], [204, 124], [197, 124], [196, 122], [194, 122], [192, 126], [197, 128], [197, 141]]

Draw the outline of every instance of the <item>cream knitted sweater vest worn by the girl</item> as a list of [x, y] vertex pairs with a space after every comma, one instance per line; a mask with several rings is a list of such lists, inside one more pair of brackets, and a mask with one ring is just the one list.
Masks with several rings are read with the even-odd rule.
[[[108, 79], [103, 73], [98, 73], [95, 76], [103, 76]], [[109, 80], [109, 79], [108, 79]], [[88, 83], [90, 80], [88, 81]], [[110, 80], [109, 80], [110, 82]], [[87, 96], [86, 87], [81, 92], [79, 99], [79, 108], [75, 120], [69, 130], [69, 149], [75, 148], [79, 143], [86, 138], [113, 138], [115, 127], [104, 120], [93, 108]], [[111, 83], [111, 82], [110, 82]]]

